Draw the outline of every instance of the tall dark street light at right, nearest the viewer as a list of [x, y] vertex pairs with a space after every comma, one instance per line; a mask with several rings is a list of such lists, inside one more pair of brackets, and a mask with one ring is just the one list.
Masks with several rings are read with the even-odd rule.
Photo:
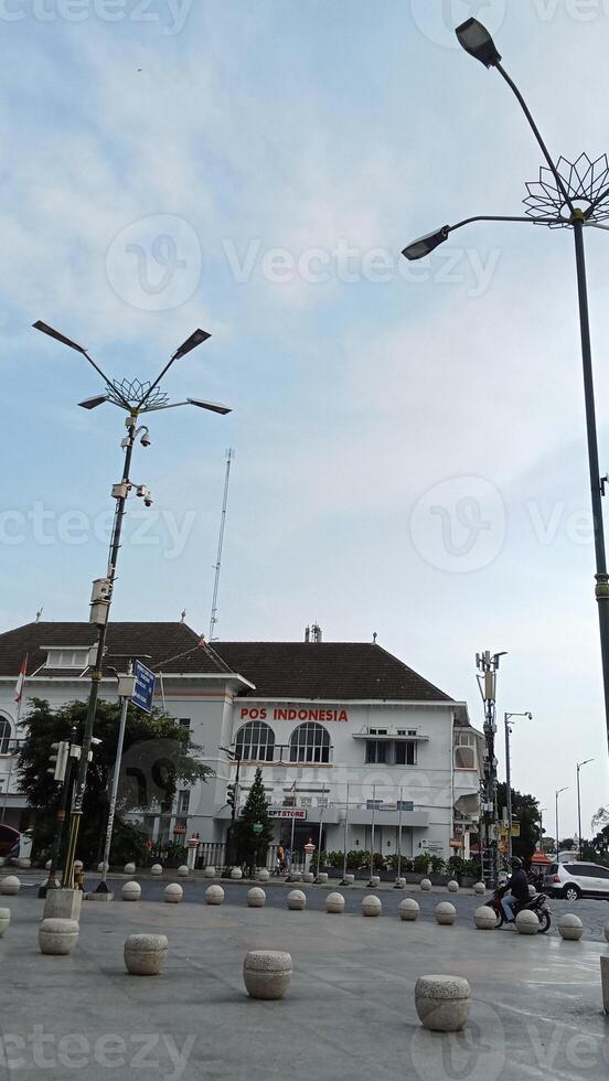
[[523, 222], [530, 225], [547, 225], [549, 228], [573, 229], [575, 239], [575, 261], [579, 300], [579, 325], [581, 336], [581, 360], [584, 366], [584, 397], [586, 404], [586, 429], [588, 438], [588, 469], [596, 555], [595, 596], [598, 603], [600, 627], [600, 651], [605, 691], [605, 720], [609, 745], [609, 575], [605, 550], [605, 528], [602, 522], [602, 495], [605, 479], [600, 477], [598, 462], [598, 440], [596, 428], [595, 389], [592, 378], [592, 356], [590, 346], [590, 323], [588, 315], [588, 291], [586, 283], [586, 259], [584, 250], [584, 228], [609, 228], [602, 224], [609, 218], [609, 161], [607, 154], [596, 160], [581, 153], [575, 162], [552, 158], [539, 130], [515, 83], [501, 64], [501, 56], [489, 31], [477, 19], [468, 19], [457, 28], [457, 38], [462, 47], [485, 67], [493, 67], [516, 96], [517, 101], [537, 140], [547, 162], [539, 170], [539, 179], [526, 184], [524, 200], [525, 216], [476, 215], [456, 225], [444, 225], [427, 233], [418, 240], [407, 245], [403, 255], [407, 259], [423, 259], [439, 244], [448, 239], [450, 233], [471, 222]]

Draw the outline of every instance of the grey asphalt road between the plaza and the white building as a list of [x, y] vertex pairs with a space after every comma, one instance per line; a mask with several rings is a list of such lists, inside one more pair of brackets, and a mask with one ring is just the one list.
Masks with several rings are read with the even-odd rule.
[[[19, 874], [19, 871], [17, 873]], [[196, 878], [196, 879], [178, 879], [172, 876], [171, 871], [165, 871], [162, 878], [150, 878], [148, 875], [135, 875], [133, 876], [141, 886], [141, 899], [142, 901], [162, 901], [163, 900], [163, 889], [169, 882], [179, 881], [184, 890], [184, 900], [191, 903], [196, 903], [200, 901], [204, 903], [204, 893], [207, 886], [211, 885], [209, 879]], [[42, 875], [34, 876], [33, 871], [25, 871], [21, 874], [21, 881], [23, 884], [22, 895], [36, 896], [35, 889], [32, 888], [33, 884], [39, 884], [42, 880]], [[98, 876], [87, 876], [86, 888], [94, 890], [98, 881]], [[121, 889], [127, 881], [127, 876], [122, 875], [120, 878], [110, 877], [108, 879], [108, 885], [114, 891], [115, 901], [120, 900]], [[256, 882], [232, 882], [224, 879], [215, 879], [225, 893], [225, 905], [238, 905], [244, 906], [246, 903], [246, 895], [248, 889], [254, 885], [260, 885]], [[311, 911], [324, 911], [325, 908], [325, 897], [332, 890], [339, 890], [343, 893], [346, 906], [345, 912], [360, 912], [360, 906], [362, 903], [362, 898], [367, 893], [375, 892], [383, 902], [383, 917], [388, 917], [389, 919], [396, 919], [398, 916], [399, 902], [405, 897], [414, 897], [418, 905], [420, 906], [420, 920], [427, 922], [434, 922], [434, 912], [436, 906], [440, 901], [449, 900], [455, 905], [458, 919], [463, 923], [473, 923], [473, 913], [476, 909], [484, 903], [484, 897], [474, 897], [469, 891], [463, 891], [461, 893], [448, 893], [446, 889], [435, 888], [431, 892], [421, 892], [418, 887], [414, 886], [405, 890], [393, 889], [391, 886], [381, 886], [376, 890], [370, 890], [368, 888], [357, 885], [356, 887], [350, 887], [346, 889], [341, 889], [336, 884], [329, 886], [310, 886], [302, 884], [286, 884], [282, 880], [270, 881], [261, 884], [266, 892], [266, 907], [267, 908], [286, 908], [286, 898], [291, 889], [303, 889], [307, 895], [307, 908]], [[490, 895], [488, 895], [490, 896]], [[605, 942], [605, 927], [609, 924], [609, 902], [605, 900], [587, 900], [583, 899], [579, 901], [563, 901], [558, 899], [549, 899], [549, 909], [552, 912], [552, 929], [548, 933], [558, 934], [556, 923], [560, 916], [565, 912], [575, 912], [579, 916], [581, 922], [584, 923], [584, 936], [592, 941]], [[503, 928], [502, 933], [512, 933], [512, 928]]]

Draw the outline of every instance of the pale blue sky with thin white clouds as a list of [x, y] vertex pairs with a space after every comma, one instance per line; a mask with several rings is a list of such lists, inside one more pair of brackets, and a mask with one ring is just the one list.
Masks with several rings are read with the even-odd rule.
[[[122, 419], [77, 403], [175, 363], [113, 616], [378, 642], [469, 703], [506, 651], [514, 786], [554, 833], [609, 799], [573, 238], [519, 215], [539, 150], [453, 26], [492, 31], [558, 157], [609, 150], [609, 0], [0, 0], [0, 627], [86, 620]], [[601, 470], [609, 237], [586, 231]], [[500, 728], [502, 725], [500, 724]], [[504, 770], [500, 740], [500, 774]]]

